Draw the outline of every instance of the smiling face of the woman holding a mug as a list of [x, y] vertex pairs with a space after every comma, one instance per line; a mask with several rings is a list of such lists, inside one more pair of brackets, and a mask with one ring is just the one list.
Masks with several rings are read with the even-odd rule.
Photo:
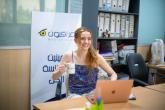
[[82, 50], [88, 50], [92, 44], [92, 36], [88, 31], [81, 33], [80, 39], [77, 42], [78, 48]]

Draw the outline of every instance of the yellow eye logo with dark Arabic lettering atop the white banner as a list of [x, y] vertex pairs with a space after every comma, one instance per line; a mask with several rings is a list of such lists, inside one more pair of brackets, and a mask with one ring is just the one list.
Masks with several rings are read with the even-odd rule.
[[47, 29], [42, 29], [38, 32], [40, 37], [48, 37], [48, 38], [73, 38], [74, 32], [65, 32], [65, 31], [48, 31]]

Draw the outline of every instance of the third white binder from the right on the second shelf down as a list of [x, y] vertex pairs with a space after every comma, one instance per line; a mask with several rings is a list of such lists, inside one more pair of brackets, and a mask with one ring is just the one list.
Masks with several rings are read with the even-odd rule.
[[121, 38], [125, 37], [125, 22], [126, 22], [126, 15], [121, 15], [121, 29], [120, 29], [120, 36]]

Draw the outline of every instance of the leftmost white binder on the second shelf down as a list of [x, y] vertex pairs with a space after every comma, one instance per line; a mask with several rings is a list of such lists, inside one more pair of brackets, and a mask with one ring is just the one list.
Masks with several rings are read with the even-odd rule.
[[104, 13], [99, 13], [99, 37], [102, 37], [104, 32]]

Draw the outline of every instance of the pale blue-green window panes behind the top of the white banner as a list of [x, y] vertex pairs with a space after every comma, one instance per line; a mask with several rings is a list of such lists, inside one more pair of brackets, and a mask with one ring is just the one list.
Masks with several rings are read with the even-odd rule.
[[83, 0], [0, 0], [0, 46], [30, 46], [32, 11], [82, 13]]

